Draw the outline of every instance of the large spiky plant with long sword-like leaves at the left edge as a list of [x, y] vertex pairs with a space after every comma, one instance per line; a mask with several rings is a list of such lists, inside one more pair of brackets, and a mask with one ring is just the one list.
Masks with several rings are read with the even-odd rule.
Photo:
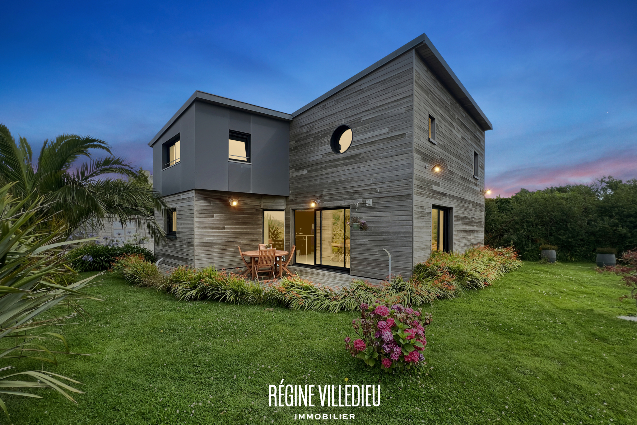
[[[65, 237], [64, 229], [37, 233], [42, 221], [37, 217], [46, 206], [41, 205], [41, 198], [35, 201], [30, 197], [13, 198], [9, 194], [12, 185], [0, 189], [0, 361], [30, 358], [57, 364], [55, 354], [69, 353], [68, 343], [59, 333], [38, 333], [38, 329], [74, 315], [45, 319], [39, 316], [55, 306], [75, 306], [73, 301], [78, 298], [93, 298], [80, 292], [93, 277], [69, 285], [56, 283], [64, 282], [57, 277], [66, 273], [66, 254], [60, 247], [69, 242], [59, 242]], [[48, 343], [62, 343], [65, 350], [49, 349]], [[8, 365], [0, 370], [14, 367]], [[36, 382], [18, 377], [31, 377]], [[25, 393], [24, 389], [52, 388], [75, 401], [69, 393], [82, 391], [60, 379], [80, 383], [50, 371], [20, 371], [0, 377], [0, 393], [41, 398], [38, 394]], [[8, 415], [1, 398], [0, 407]]]

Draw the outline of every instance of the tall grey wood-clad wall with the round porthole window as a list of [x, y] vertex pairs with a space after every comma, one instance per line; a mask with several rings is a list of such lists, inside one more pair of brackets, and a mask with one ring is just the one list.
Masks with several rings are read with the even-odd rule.
[[[351, 274], [387, 277], [412, 270], [413, 209], [413, 55], [388, 62], [373, 73], [297, 115], [290, 123], [290, 198], [286, 240], [294, 233], [292, 210], [360, 206], [368, 231], [351, 236]], [[352, 145], [334, 154], [330, 139], [336, 127], [352, 128]], [[288, 215], [290, 218], [288, 218]]]

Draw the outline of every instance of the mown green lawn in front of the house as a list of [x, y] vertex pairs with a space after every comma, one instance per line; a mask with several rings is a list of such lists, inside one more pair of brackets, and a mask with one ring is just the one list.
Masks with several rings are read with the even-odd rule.
[[[354, 313], [178, 303], [112, 277], [91, 291], [106, 299], [86, 303], [92, 319], [59, 331], [75, 352], [99, 354], [47, 366], [86, 393], [78, 405], [52, 392], [10, 396], [8, 423], [282, 424], [308, 411], [355, 414], [349, 422], [360, 424], [637, 423], [637, 322], [615, 318], [637, 309], [617, 300], [619, 278], [593, 264], [525, 263], [492, 287], [427, 306], [426, 368], [390, 376], [345, 352]], [[268, 384], [282, 378], [346, 377], [380, 378], [380, 407], [268, 407]]]

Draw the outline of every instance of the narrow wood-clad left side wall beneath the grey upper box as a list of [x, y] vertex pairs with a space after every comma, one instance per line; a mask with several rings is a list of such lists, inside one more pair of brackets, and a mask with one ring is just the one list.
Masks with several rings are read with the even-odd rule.
[[[194, 265], [194, 191], [187, 191], [166, 196], [171, 208], [177, 209], [177, 237], [166, 243], [155, 243], [155, 257], [162, 258], [161, 270], [178, 266]], [[156, 215], [166, 229], [166, 217]]]

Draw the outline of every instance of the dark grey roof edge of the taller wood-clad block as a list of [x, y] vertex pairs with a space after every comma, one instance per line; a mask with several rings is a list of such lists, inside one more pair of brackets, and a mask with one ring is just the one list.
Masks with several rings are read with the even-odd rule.
[[324, 101], [328, 97], [333, 94], [339, 92], [340, 90], [345, 89], [348, 85], [352, 85], [353, 83], [361, 80], [364, 76], [369, 73], [375, 71], [380, 68], [387, 62], [396, 59], [400, 55], [404, 54], [408, 50], [415, 49], [416, 52], [422, 57], [422, 60], [427, 64], [429, 69], [440, 79], [440, 81], [445, 85], [447, 90], [457, 99], [457, 101], [462, 105], [462, 107], [466, 110], [466, 112], [471, 115], [471, 117], [482, 127], [483, 130], [492, 130], [493, 126], [484, 112], [480, 109], [480, 106], [476, 103], [476, 101], [471, 97], [468, 90], [462, 85], [459, 78], [454, 74], [454, 71], [451, 70], [450, 66], [447, 64], [445, 59], [440, 55], [436, 47], [434, 47], [431, 40], [427, 37], [427, 34], [421, 34], [420, 36], [414, 38], [412, 41], [404, 45], [403, 47], [395, 50], [389, 55], [380, 59], [380, 61], [372, 64], [368, 68], [363, 69], [361, 72], [354, 75], [349, 80], [337, 85], [334, 89], [329, 90], [326, 94], [317, 97], [310, 103], [303, 106], [299, 110], [292, 112], [292, 119], [299, 115], [300, 113], [305, 112], [310, 109], [312, 106]]

